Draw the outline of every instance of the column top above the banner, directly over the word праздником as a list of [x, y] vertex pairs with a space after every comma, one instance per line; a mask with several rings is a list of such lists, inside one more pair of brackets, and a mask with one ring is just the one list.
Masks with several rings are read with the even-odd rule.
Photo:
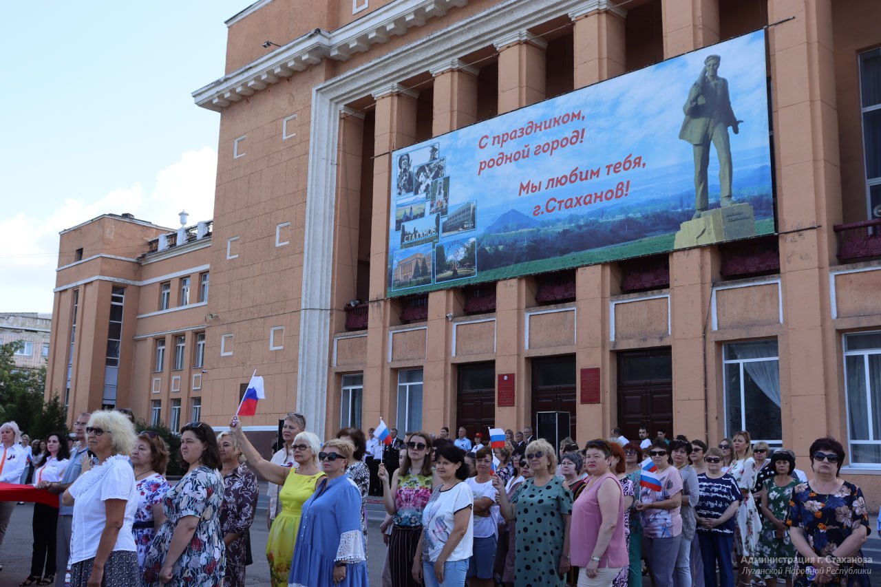
[[493, 43], [499, 51], [499, 114], [544, 100], [544, 49], [548, 44], [521, 31]]

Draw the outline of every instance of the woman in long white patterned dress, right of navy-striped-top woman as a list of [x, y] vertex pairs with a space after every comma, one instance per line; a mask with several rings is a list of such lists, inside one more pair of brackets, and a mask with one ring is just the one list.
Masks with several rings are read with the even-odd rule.
[[737, 509], [737, 532], [734, 534], [734, 554], [737, 555], [737, 581], [743, 587], [750, 587], [752, 570], [750, 557], [759, 544], [759, 532], [762, 518], [759, 516], [759, 504], [752, 495], [752, 487], [756, 485], [759, 472], [756, 459], [752, 457], [750, 433], [745, 430], [731, 437], [731, 448], [735, 460], [728, 470], [729, 475], [740, 487], [740, 508]]

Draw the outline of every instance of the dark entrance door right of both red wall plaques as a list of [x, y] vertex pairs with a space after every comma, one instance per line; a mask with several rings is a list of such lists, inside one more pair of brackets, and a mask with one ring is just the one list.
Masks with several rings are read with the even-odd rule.
[[673, 437], [673, 366], [670, 349], [618, 353], [618, 427], [633, 441], [640, 427], [655, 438], [663, 428]]

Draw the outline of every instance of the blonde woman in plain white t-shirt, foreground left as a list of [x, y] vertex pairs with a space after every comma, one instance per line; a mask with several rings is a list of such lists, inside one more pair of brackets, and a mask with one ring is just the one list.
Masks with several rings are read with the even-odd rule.
[[98, 464], [89, 467], [62, 496], [65, 506], [73, 506], [70, 587], [137, 585], [141, 573], [131, 533], [137, 495], [128, 458], [135, 429], [120, 412], [105, 410], [92, 414], [85, 435]]

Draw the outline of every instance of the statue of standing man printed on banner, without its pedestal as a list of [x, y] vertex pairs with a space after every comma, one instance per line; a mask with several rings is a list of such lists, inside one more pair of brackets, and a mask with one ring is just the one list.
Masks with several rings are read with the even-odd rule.
[[682, 108], [685, 121], [679, 130], [679, 138], [692, 144], [694, 148], [694, 216], [699, 219], [701, 212], [709, 207], [707, 193], [707, 167], [710, 160], [710, 143], [715, 146], [719, 158], [719, 203], [722, 206], [734, 204], [731, 197], [731, 144], [728, 127], [739, 131], [739, 124], [728, 93], [728, 80], [720, 78], [719, 63], [722, 57], [707, 56], [704, 68], [697, 81], [688, 91], [688, 99]]

